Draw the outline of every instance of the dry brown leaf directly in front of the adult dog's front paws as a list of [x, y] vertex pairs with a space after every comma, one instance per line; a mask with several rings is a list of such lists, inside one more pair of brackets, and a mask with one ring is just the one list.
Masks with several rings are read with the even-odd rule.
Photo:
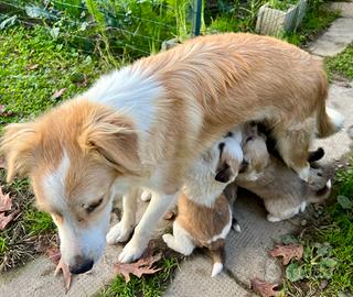
[[130, 280], [130, 274], [141, 277], [143, 274], [154, 274], [161, 268], [153, 268], [152, 265], [162, 257], [162, 254], [147, 255], [135, 263], [117, 263], [114, 265], [115, 272], [124, 276], [125, 282]]

